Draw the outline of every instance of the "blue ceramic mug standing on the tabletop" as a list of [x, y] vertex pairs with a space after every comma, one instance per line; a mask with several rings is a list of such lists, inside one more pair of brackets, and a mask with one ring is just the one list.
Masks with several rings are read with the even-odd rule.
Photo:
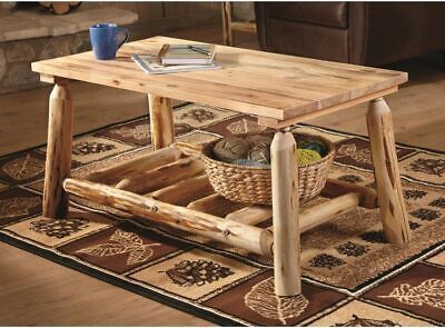
[[[116, 52], [128, 41], [128, 30], [115, 23], [100, 23], [90, 27], [92, 51], [96, 58], [100, 60], [115, 59]], [[118, 39], [121, 39], [121, 41], [118, 41]]]

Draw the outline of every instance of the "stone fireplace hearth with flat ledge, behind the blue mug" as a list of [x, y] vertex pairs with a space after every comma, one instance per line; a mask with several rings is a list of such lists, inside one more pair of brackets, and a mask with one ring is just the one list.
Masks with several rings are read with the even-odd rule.
[[82, 3], [55, 16], [41, 8], [0, 8], [0, 93], [40, 86], [31, 62], [90, 49], [88, 29], [97, 22], [125, 26], [138, 20], [128, 10]]

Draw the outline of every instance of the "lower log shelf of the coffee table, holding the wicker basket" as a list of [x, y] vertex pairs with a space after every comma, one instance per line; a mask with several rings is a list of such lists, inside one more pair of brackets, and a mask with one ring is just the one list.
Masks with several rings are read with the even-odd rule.
[[[217, 195], [199, 152], [185, 143], [101, 169], [86, 179], [68, 178], [63, 188], [152, 222], [273, 256], [273, 228], [256, 227], [271, 218], [271, 207], [236, 203]], [[376, 207], [377, 197], [370, 188], [328, 179], [323, 193], [336, 198], [301, 211], [300, 233], [357, 206]]]

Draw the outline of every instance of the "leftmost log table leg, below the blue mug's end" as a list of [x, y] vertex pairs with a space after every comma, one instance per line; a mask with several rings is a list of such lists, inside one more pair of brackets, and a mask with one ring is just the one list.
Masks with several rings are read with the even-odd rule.
[[44, 167], [43, 216], [63, 218], [68, 193], [62, 183], [71, 172], [72, 100], [68, 80], [57, 80], [49, 97], [48, 146]]

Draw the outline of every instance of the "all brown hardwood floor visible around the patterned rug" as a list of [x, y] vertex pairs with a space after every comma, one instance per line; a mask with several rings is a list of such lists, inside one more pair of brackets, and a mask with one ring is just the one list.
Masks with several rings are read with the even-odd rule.
[[[221, 42], [219, 26], [171, 37]], [[257, 48], [249, 34], [237, 44]], [[409, 82], [387, 97], [396, 140], [445, 150], [445, 71], [434, 57], [392, 67]], [[72, 83], [75, 133], [142, 116], [147, 97]], [[0, 155], [46, 142], [50, 88], [0, 96]], [[366, 133], [366, 106], [310, 121]], [[207, 326], [209, 322], [0, 242], [0, 325]]]

